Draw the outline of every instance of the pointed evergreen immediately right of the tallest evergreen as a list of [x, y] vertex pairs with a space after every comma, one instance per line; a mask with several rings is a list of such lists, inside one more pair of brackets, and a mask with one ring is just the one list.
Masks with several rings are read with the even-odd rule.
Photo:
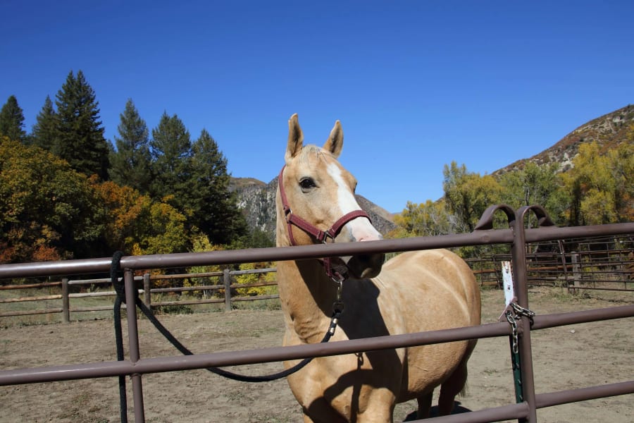
[[110, 178], [119, 185], [146, 194], [152, 180], [149, 130], [132, 99], [128, 99], [123, 114], [120, 114], [118, 131], [119, 137], [114, 137], [117, 151], [110, 154]]

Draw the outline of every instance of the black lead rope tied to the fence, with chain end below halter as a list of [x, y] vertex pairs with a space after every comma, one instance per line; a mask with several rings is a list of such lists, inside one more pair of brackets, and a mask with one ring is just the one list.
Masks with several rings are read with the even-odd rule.
[[[116, 345], [117, 345], [117, 360], [118, 361], [124, 360], [123, 335], [121, 331], [121, 303], [125, 302], [125, 286], [123, 285], [123, 280], [117, 277], [119, 262], [121, 260], [121, 257], [123, 257], [123, 252], [120, 252], [120, 251], [115, 252], [112, 257], [112, 262], [110, 266], [111, 282], [117, 293], [117, 298], [115, 300], [115, 306], [114, 306], [114, 319], [115, 319], [115, 338], [116, 338]], [[172, 333], [170, 333], [170, 331], [168, 331], [168, 329], [165, 326], [163, 326], [163, 324], [161, 324], [159, 319], [156, 319], [156, 316], [151, 311], [151, 309], [149, 309], [149, 307], [147, 307], [147, 305], [145, 305], [144, 302], [141, 301], [141, 299], [139, 298], [139, 294], [136, 290], [135, 290], [135, 304], [137, 305], [137, 307], [139, 307], [139, 309], [141, 309], [145, 317], [147, 317], [149, 321], [151, 321], [151, 323], [154, 324], [154, 327], [156, 327], [156, 329], [158, 329], [159, 332], [161, 332], [161, 334], [172, 345], [174, 345], [174, 347], [177, 350], [179, 350], [180, 353], [182, 353], [182, 355], [194, 355], [192, 351], [187, 349], [185, 345], [182, 345], [182, 343], [180, 343], [180, 341], [178, 341], [178, 339], [176, 339], [172, 335]], [[330, 327], [328, 328], [328, 331], [326, 331], [323, 339], [321, 340], [321, 343], [327, 343], [328, 341], [330, 341], [330, 338], [332, 338], [332, 335], [335, 334], [337, 323], [343, 312], [343, 307], [340, 301], [335, 302], [335, 307], [333, 308], [334, 309], [332, 312], [332, 318], [330, 319]], [[235, 381], [268, 382], [268, 381], [275, 381], [277, 379], [281, 379], [282, 377], [286, 377], [290, 374], [293, 374], [294, 372], [297, 372], [299, 369], [302, 369], [303, 367], [305, 367], [306, 364], [309, 364], [311, 360], [313, 360], [313, 357], [306, 357], [304, 358], [304, 360], [295, 364], [293, 367], [283, 370], [282, 372], [270, 374], [268, 376], [247, 376], [243, 374], [228, 372], [226, 370], [219, 369], [218, 367], [208, 367], [206, 370], [208, 370], [209, 372], [212, 372], [213, 374], [218, 374], [219, 376], [223, 376], [228, 379], [233, 379]], [[120, 404], [121, 404], [121, 422], [127, 423], [128, 422], [128, 412], [127, 412], [128, 399], [125, 394], [125, 376], [119, 376], [119, 396], [120, 396]]]

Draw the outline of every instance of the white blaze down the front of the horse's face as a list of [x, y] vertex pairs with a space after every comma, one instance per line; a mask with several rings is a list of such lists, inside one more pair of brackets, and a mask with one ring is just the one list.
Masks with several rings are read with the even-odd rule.
[[[345, 183], [341, 174], [341, 169], [337, 164], [331, 163], [328, 165], [328, 174], [332, 177], [332, 180], [337, 184], [337, 205], [341, 210], [341, 216], [344, 214], [361, 210], [359, 203], [354, 198], [354, 193], [350, 190]], [[344, 225], [352, 235], [351, 241], [373, 241], [383, 239], [383, 236], [372, 226], [372, 223], [364, 217], [352, 219]]]

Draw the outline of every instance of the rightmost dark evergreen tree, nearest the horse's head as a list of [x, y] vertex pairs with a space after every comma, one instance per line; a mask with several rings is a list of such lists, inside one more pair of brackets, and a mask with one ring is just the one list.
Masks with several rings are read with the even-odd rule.
[[227, 159], [213, 137], [203, 129], [192, 146], [192, 218], [194, 224], [215, 244], [228, 244], [247, 231], [244, 216], [229, 190]]

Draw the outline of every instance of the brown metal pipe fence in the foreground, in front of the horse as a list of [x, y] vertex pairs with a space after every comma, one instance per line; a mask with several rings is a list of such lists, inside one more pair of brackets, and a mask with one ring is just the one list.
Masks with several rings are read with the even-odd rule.
[[[508, 229], [493, 229], [492, 214], [496, 211], [506, 214]], [[540, 228], [525, 229], [523, 221], [528, 212], [535, 213], [540, 220]], [[259, 250], [234, 250], [219, 252], [182, 253], [175, 255], [148, 255], [123, 257], [120, 266], [124, 269], [125, 293], [128, 304], [134, 300], [135, 269], [173, 268], [211, 264], [235, 264], [243, 262], [273, 262], [313, 257], [333, 257], [340, 255], [367, 254], [371, 252], [399, 252], [407, 250], [428, 250], [439, 247], [458, 247], [461, 245], [509, 244], [514, 274], [514, 286], [517, 304], [528, 309], [528, 266], [526, 262], [526, 243], [545, 240], [570, 238], [589, 238], [598, 235], [624, 235], [634, 233], [634, 223], [618, 223], [602, 226], [583, 226], [557, 228], [552, 226], [541, 207], [521, 207], [513, 210], [507, 206], [495, 206], [487, 209], [480, 219], [476, 231], [461, 235], [409, 238], [401, 240], [368, 241], [366, 243], [309, 245], [300, 247], [263, 248]], [[85, 259], [68, 262], [44, 262], [26, 264], [6, 264], [0, 266], [0, 279], [51, 276], [71, 274], [89, 274], [108, 271], [111, 259]], [[378, 338], [357, 339], [352, 341], [297, 345], [292, 347], [266, 348], [263, 350], [243, 350], [230, 353], [213, 353], [179, 357], [156, 357], [142, 359], [139, 356], [139, 337], [137, 314], [134, 307], [128, 307], [128, 343], [130, 357], [124, 361], [94, 362], [56, 367], [38, 367], [14, 369], [0, 372], [0, 386], [11, 384], [30, 384], [45, 381], [71, 379], [92, 379], [129, 375], [132, 379], [134, 413], [137, 422], [144, 422], [142, 375], [155, 372], [172, 372], [206, 367], [225, 367], [230, 365], [254, 364], [260, 362], [278, 362], [304, 357], [321, 357], [361, 353], [370, 350], [401, 348], [411, 345], [444, 343], [473, 338], [509, 336], [510, 326], [506, 322], [485, 324], [468, 328], [448, 329], [423, 333], [406, 333]], [[601, 386], [589, 386], [568, 391], [535, 394], [533, 381], [533, 361], [531, 357], [530, 332], [553, 326], [634, 317], [634, 305], [609, 307], [584, 312], [546, 314], [529, 317], [519, 314], [517, 319], [518, 355], [520, 357], [521, 400], [511, 405], [477, 410], [462, 415], [437, 417], [434, 422], [495, 422], [503, 419], [518, 419], [521, 422], [536, 422], [537, 408], [550, 407], [580, 400], [602, 398], [606, 396], [634, 393], [634, 380]], [[531, 326], [530, 321], [533, 321]]]

